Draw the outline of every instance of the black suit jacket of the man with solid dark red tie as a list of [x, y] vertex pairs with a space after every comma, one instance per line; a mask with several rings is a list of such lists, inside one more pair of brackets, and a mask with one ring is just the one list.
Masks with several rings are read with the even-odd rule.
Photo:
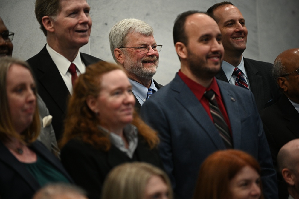
[[[100, 59], [91, 55], [80, 53], [83, 63], [88, 66]], [[44, 48], [27, 60], [36, 78], [39, 95], [47, 105], [50, 115], [53, 116], [52, 126], [59, 140], [63, 131], [63, 120], [65, 118], [69, 91], [66, 87], [58, 68], [52, 60], [46, 45]]]

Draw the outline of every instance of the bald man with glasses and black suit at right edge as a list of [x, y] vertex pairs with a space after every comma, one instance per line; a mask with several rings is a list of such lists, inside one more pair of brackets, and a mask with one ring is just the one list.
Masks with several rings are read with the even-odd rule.
[[[274, 61], [272, 75], [277, 80], [281, 98], [260, 112], [266, 137], [277, 167], [277, 154], [290, 140], [299, 138], [299, 49], [280, 53]], [[287, 198], [286, 185], [278, 178], [280, 198]], [[283, 197], [283, 193], [285, 196]]]

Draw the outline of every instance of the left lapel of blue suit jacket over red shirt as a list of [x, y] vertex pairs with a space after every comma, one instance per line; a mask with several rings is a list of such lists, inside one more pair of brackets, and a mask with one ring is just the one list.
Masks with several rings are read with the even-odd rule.
[[[178, 74], [176, 74], [175, 79], [171, 82], [171, 87], [175, 92], [178, 92], [177, 95], [174, 95], [176, 100], [182, 104], [182, 107], [186, 109], [192, 118], [198, 123], [199, 131], [203, 129], [218, 149], [226, 149], [222, 138], [220, 137], [219, 132], [210, 119], [208, 113], [205, 111], [204, 107], [189, 87], [181, 80]], [[189, 122], [193, 122], [191, 118]]]

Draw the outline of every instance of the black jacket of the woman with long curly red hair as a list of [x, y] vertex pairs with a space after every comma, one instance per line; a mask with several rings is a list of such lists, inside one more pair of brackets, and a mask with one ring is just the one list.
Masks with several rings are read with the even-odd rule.
[[113, 144], [109, 151], [97, 149], [91, 144], [72, 139], [61, 150], [61, 162], [78, 186], [88, 192], [90, 199], [98, 199], [104, 179], [109, 171], [125, 162], [142, 161], [163, 169], [158, 149], [150, 149], [139, 136], [133, 159]]

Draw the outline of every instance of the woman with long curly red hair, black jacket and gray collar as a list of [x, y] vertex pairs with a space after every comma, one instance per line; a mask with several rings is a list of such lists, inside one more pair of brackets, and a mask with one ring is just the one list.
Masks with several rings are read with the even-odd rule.
[[107, 62], [86, 67], [68, 103], [61, 161], [89, 198], [99, 198], [108, 172], [124, 162], [163, 168], [157, 133], [134, 112], [132, 86], [123, 68]]

